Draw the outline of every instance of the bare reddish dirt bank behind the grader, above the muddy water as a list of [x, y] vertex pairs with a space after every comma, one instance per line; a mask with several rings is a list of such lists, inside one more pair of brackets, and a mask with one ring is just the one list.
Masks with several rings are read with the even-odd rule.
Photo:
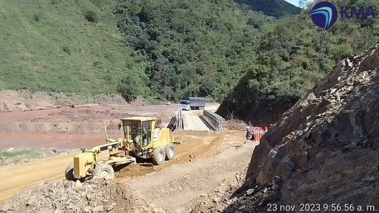
[[[0, 113], [2, 133], [104, 133], [104, 125], [109, 130], [117, 130], [120, 118], [131, 116], [153, 116], [167, 125], [175, 114], [177, 104], [93, 106], [86, 108], [64, 108], [30, 112]], [[104, 138], [104, 137], [101, 137]], [[0, 138], [1, 139], [1, 138]], [[1, 142], [1, 141], [0, 141]]]

